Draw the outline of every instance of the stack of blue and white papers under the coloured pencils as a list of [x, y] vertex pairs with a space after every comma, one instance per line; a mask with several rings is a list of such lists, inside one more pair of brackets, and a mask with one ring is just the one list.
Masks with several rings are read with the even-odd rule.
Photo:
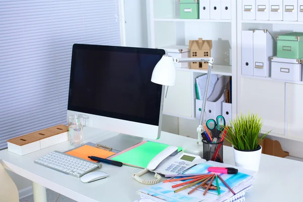
[[[204, 164], [199, 164], [192, 169], [186, 171], [184, 174], [201, 174], [209, 173], [207, 171], [208, 167], [234, 167], [226, 164], [220, 164], [218, 162], [208, 161]], [[216, 190], [209, 190], [206, 195], [203, 195], [205, 189], [198, 188], [193, 193], [188, 194], [195, 186], [186, 188], [177, 193], [174, 192], [175, 189], [172, 185], [179, 184], [184, 181], [174, 181], [159, 183], [148, 188], [143, 188], [138, 190], [141, 198], [146, 198], [154, 201], [174, 201], [174, 202], [212, 202], [212, 201], [244, 201], [245, 192], [251, 187], [252, 175], [255, 174], [253, 171], [248, 171], [245, 169], [237, 168], [239, 172], [237, 174], [220, 174], [224, 181], [233, 189], [236, 195], [233, 195], [231, 191], [225, 185], [219, 181], [221, 196], [218, 196]], [[213, 183], [216, 186], [216, 183]]]

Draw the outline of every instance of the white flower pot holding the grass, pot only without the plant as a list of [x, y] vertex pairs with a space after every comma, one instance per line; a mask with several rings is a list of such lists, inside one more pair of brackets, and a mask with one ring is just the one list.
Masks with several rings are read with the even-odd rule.
[[262, 146], [255, 150], [237, 150], [233, 147], [235, 164], [237, 167], [252, 171], [259, 171]]

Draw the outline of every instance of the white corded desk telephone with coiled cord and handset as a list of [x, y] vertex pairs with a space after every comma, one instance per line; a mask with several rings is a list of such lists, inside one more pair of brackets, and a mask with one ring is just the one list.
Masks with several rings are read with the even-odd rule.
[[[142, 184], [157, 184], [162, 181], [162, 177], [159, 174], [178, 174], [195, 164], [204, 162], [206, 162], [206, 160], [201, 159], [199, 156], [187, 154], [183, 151], [178, 153], [178, 147], [169, 146], [152, 159], [147, 165], [147, 168], [137, 174], [133, 174], [132, 177]], [[155, 177], [157, 179], [143, 180], [140, 176], [148, 171], [155, 172]]]

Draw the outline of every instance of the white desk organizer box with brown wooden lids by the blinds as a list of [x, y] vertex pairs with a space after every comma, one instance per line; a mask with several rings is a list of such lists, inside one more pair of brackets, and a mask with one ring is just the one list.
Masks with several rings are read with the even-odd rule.
[[68, 126], [58, 125], [9, 139], [8, 150], [23, 156], [68, 140]]

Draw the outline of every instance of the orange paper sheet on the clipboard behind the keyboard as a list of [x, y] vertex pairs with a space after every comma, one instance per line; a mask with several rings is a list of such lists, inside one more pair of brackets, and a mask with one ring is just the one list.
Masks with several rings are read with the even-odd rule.
[[68, 151], [66, 154], [72, 155], [72, 156], [75, 156], [75, 157], [78, 157], [81, 159], [89, 160], [92, 162], [96, 162], [96, 161], [89, 159], [88, 156], [95, 156], [95, 157], [100, 157], [100, 158], [106, 159], [116, 153], [114, 153], [113, 151], [100, 149], [100, 148], [97, 148], [94, 146], [83, 145], [78, 148], [75, 148], [74, 150]]

